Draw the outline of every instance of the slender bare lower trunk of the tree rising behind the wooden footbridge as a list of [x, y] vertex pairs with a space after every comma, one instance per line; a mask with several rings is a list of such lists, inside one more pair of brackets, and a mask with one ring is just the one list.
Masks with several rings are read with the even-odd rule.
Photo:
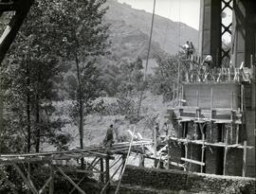
[[[82, 83], [81, 72], [79, 66], [79, 59], [76, 55], [77, 79], [78, 79], [78, 103], [79, 103], [79, 134], [80, 134], [80, 148], [83, 149], [83, 102], [82, 102]], [[84, 160], [81, 158], [81, 168], [84, 168]]]

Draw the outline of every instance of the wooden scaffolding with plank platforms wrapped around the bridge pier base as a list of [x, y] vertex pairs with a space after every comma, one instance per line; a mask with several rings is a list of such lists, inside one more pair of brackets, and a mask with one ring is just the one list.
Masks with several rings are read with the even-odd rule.
[[[206, 149], [212, 152], [211, 148], [221, 148], [224, 150], [223, 169], [218, 173], [227, 175], [229, 149], [242, 149], [241, 175], [246, 176], [247, 150], [253, 149], [247, 146], [246, 137], [246, 112], [250, 105], [246, 94], [253, 87], [255, 71], [252, 62], [250, 69], [244, 67], [243, 62], [240, 68], [213, 69], [204, 68], [192, 59], [180, 59], [180, 62], [185, 63], [184, 81], [177, 80], [178, 103], [167, 115], [172, 126], [176, 126], [175, 134], [162, 137], [168, 143], [168, 168], [175, 166], [187, 171], [193, 164], [200, 167], [199, 172], [206, 172]], [[173, 143], [181, 145], [178, 161], [174, 161], [170, 151]], [[198, 149], [189, 151], [191, 145]], [[199, 147], [201, 153], [196, 159], [192, 158], [192, 152]]]

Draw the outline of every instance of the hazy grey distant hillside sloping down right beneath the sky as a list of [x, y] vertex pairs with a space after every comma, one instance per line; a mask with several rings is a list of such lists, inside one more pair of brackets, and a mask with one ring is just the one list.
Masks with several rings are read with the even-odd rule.
[[[110, 35], [113, 46], [122, 46], [121, 48], [124, 49], [127, 48], [126, 46], [131, 46], [141, 53], [141, 50], [145, 49], [144, 41], [148, 40], [150, 34], [152, 14], [144, 10], [133, 9], [115, 0], [107, 1], [107, 6], [109, 9], [105, 19], [107, 23], [112, 24]], [[174, 54], [179, 49], [178, 45], [188, 40], [198, 47], [198, 30], [155, 15], [152, 53], [159, 46], [160, 49]], [[139, 42], [143, 43], [142, 46]]]

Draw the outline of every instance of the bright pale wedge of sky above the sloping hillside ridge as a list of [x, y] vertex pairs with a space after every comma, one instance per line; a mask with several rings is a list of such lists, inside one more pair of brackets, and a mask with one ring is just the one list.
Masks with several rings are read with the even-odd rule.
[[[134, 9], [153, 12], [154, 0], [118, 0]], [[155, 14], [199, 29], [200, 0], [155, 0]]]

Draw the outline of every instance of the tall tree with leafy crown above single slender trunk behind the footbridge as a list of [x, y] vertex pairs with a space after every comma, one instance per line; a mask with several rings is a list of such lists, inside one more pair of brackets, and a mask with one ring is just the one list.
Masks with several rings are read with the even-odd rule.
[[[79, 117], [80, 146], [83, 149], [84, 104], [96, 97], [98, 91], [93, 72], [94, 58], [106, 54], [108, 25], [102, 19], [106, 0], [61, 1], [55, 5], [55, 24], [58, 24], [62, 39], [63, 54], [67, 61], [76, 65], [77, 105]], [[83, 162], [82, 162], [83, 163]]]

